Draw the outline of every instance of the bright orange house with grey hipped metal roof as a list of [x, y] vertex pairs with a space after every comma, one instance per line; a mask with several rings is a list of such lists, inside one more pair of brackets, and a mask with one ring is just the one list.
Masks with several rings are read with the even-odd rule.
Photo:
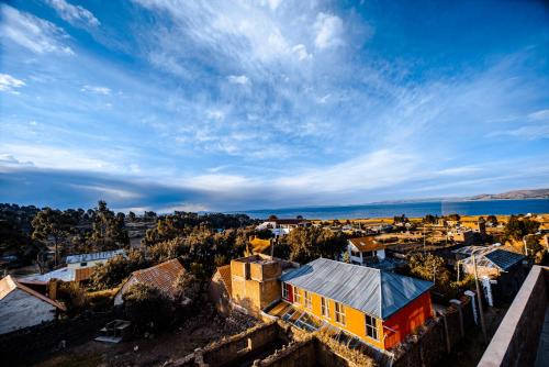
[[380, 349], [433, 315], [430, 281], [317, 258], [283, 274], [282, 299]]

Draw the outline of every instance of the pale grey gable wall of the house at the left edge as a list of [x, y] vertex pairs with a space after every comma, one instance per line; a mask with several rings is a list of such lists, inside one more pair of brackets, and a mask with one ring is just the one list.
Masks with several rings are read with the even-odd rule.
[[30, 327], [56, 318], [56, 308], [21, 289], [0, 301], [0, 334]]

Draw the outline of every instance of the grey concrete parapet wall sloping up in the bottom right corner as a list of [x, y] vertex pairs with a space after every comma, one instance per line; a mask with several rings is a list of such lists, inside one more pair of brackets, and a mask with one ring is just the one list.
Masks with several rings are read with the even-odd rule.
[[534, 365], [548, 307], [548, 277], [549, 268], [531, 268], [484, 352], [479, 367]]

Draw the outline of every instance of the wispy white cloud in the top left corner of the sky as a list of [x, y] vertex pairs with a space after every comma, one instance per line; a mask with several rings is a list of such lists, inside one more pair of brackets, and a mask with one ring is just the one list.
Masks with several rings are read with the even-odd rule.
[[68, 38], [65, 31], [48, 21], [5, 4], [1, 5], [0, 18], [1, 38], [9, 38], [36, 54], [75, 54], [64, 43]]

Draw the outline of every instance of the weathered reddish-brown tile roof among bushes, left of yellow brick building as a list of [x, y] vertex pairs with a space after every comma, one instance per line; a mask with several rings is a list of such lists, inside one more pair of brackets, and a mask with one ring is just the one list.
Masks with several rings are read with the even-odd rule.
[[183, 270], [184, 268], [181, 263], [175, 258], [150, 268], [136, 270], [132, 273], [132, 277], [137, 282], [156, 287], [168, 296], [173, 297], [176, 291], [175, 282]]

